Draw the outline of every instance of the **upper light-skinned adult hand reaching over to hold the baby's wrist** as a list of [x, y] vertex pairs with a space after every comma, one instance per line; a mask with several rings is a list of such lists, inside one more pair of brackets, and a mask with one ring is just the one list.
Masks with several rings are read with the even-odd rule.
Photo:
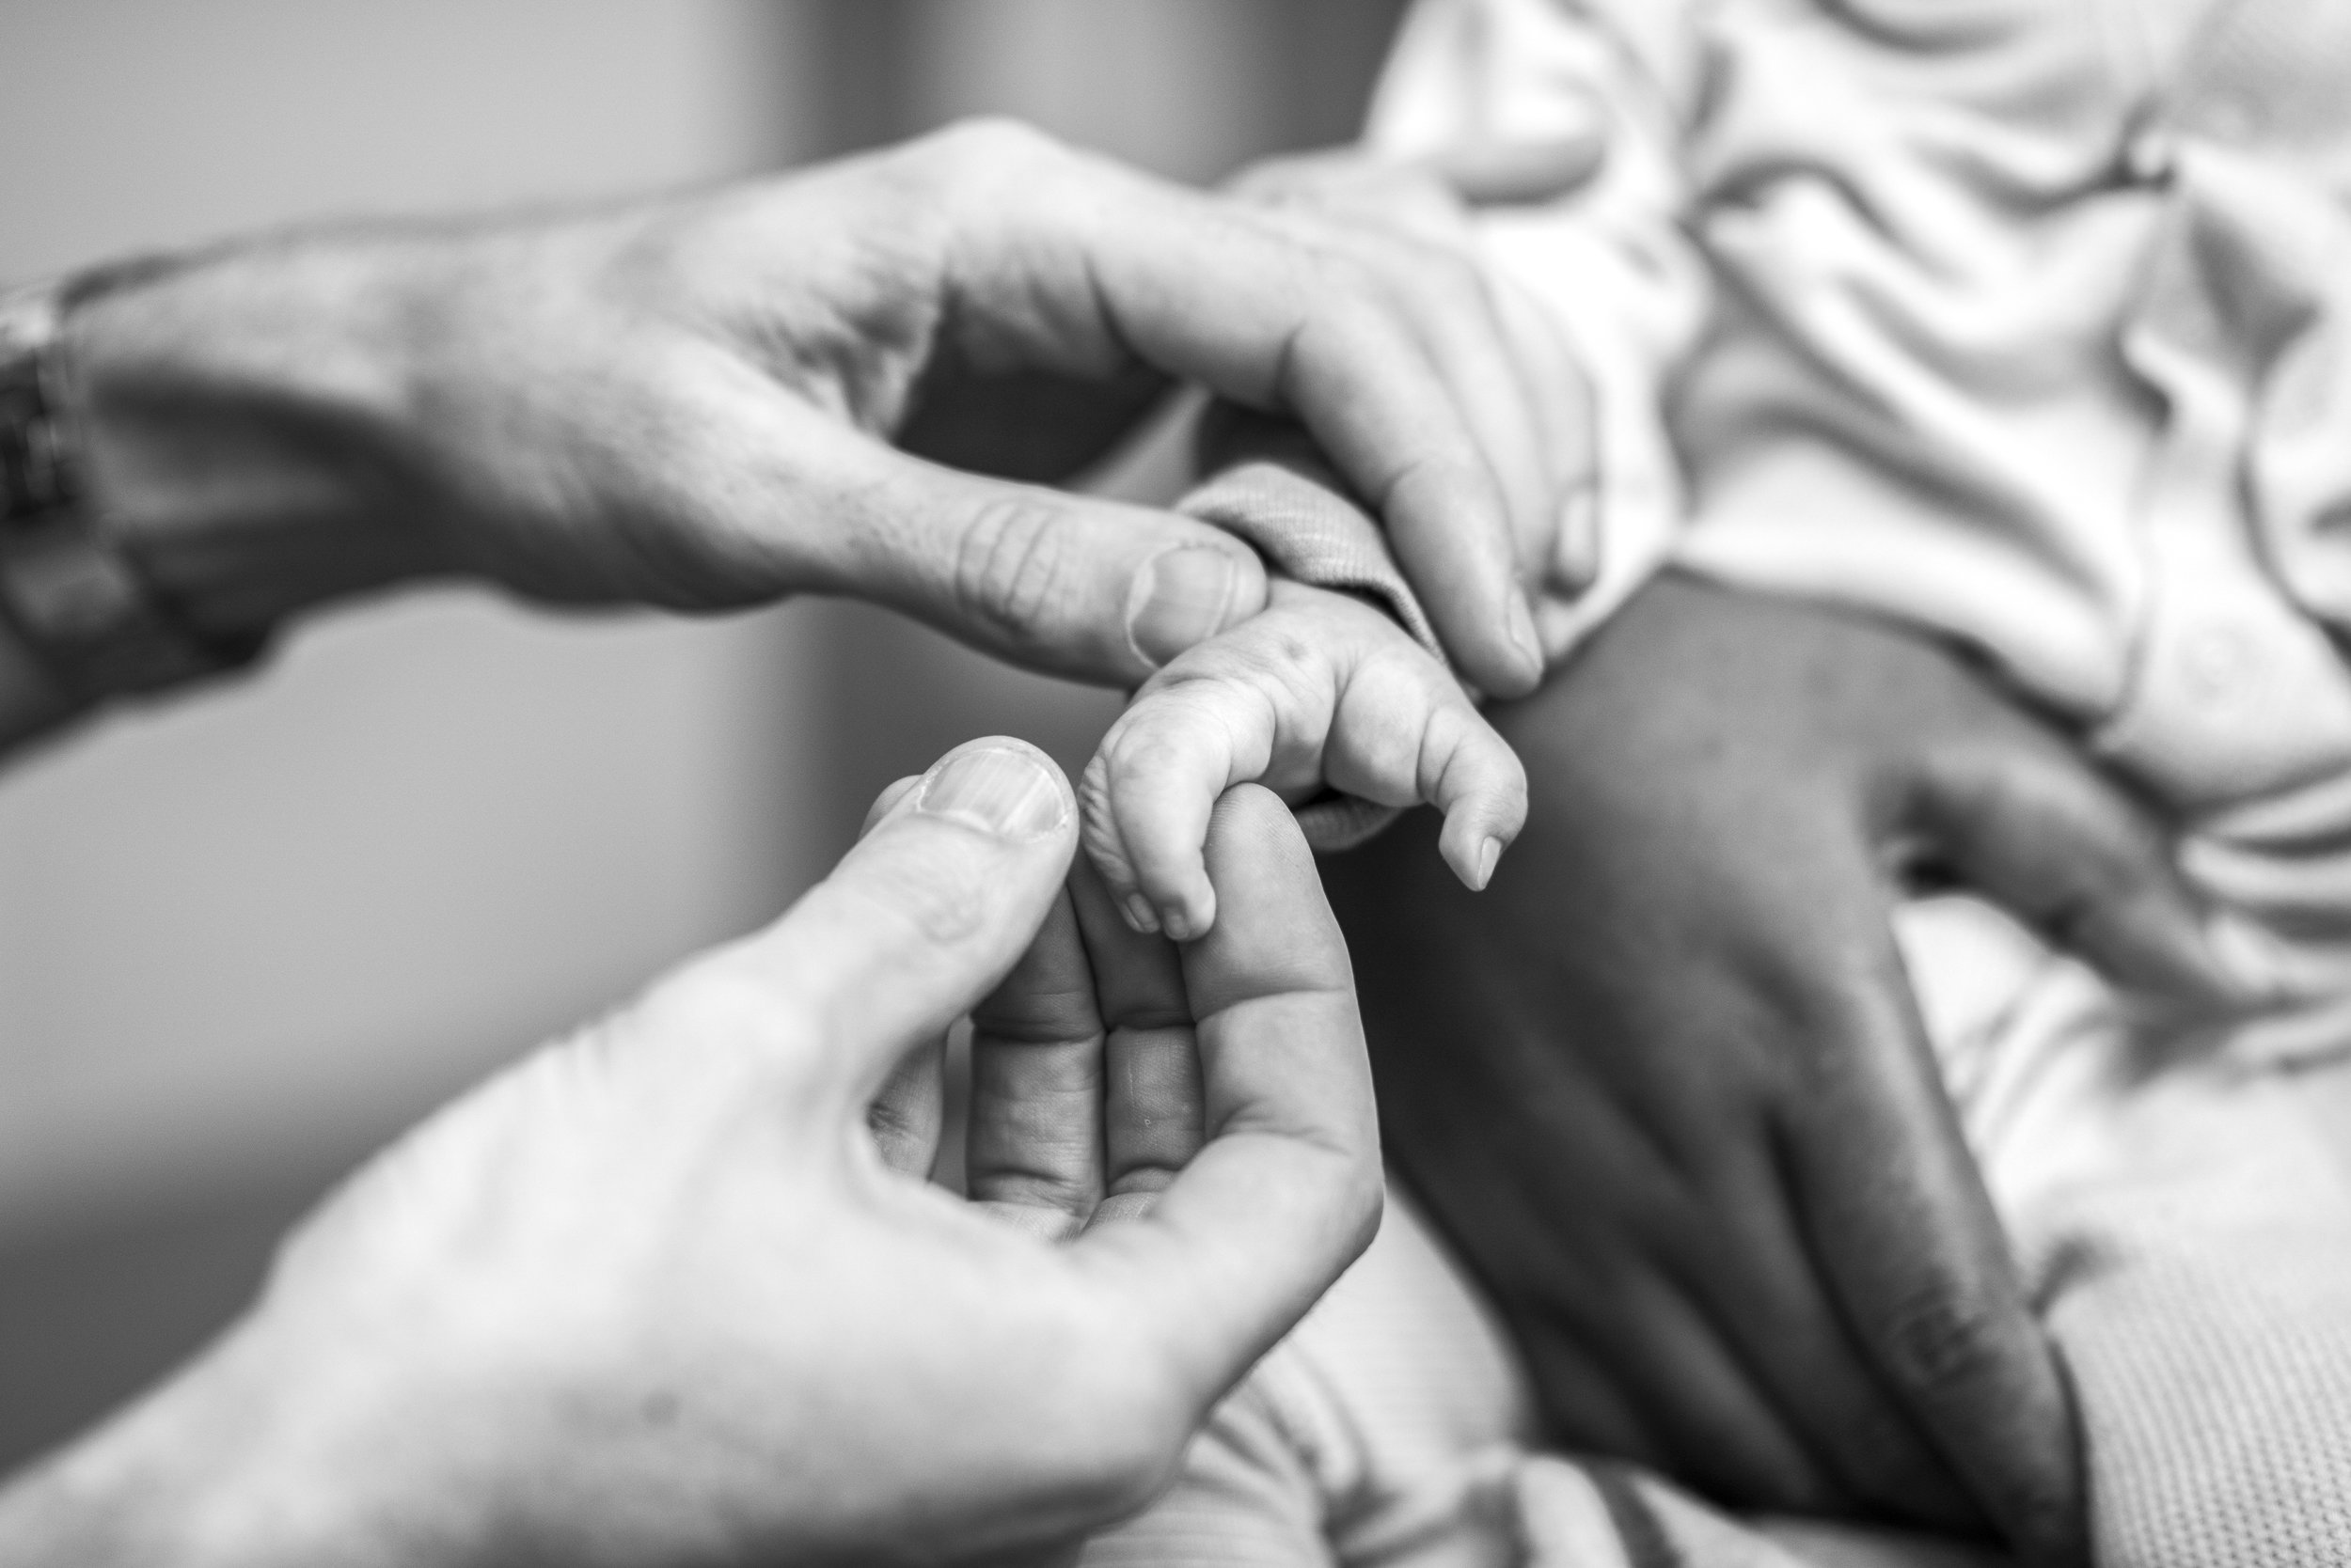
[[872, 597], [1136, 684], [1260, 607], [1258, 559], [1030, 480], [1180, 378], [1312, 430], [1472, 679], [1542, 670], [1514, 536], [1556, 487], [1472, 261], [1009, 125], [581, 216], [230, 247], [94, 292], [68, 364], [110, 524], [223, 635], [470, 571], [560, 602]]

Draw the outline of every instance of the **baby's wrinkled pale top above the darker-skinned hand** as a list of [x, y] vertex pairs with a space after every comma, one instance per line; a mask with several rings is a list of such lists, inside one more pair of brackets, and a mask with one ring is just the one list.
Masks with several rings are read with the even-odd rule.
[[2069, 717], [2306, 1001], [2252, 1053], [2351, 1041], [2346, 82], [2332, 0], [1429, 0], [1373, 115], [1608, 106], [1589, 207], [1483, 228], [1587, 348], [1608, 557], [1890, 614]]

